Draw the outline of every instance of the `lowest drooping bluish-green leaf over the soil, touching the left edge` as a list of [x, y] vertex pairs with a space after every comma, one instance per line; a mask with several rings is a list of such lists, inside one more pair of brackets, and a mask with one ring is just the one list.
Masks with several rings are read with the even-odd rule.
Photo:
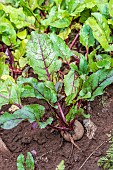
[[45, 108], [39, 104], [26, 105], [16, 110], [13, 114], [5, 112], [0, 117], [0, 126], [4, 129], [12, 129], [25, 119], [30, 123], [39, 122], [44, 113]]

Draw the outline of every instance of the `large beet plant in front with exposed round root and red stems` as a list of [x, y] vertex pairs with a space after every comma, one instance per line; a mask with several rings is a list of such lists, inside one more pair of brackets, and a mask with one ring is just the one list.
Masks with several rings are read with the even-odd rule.
[[[18, 110], [13, 110], [13, 114], [5, 112], [0, 117], [0, 126], [11, 129], [27, 119], [30, 123], [37, 123], [40, 128], [49, 125], [59, 130], [67, 141], [75, 145], [74, 140], [82, 138], [84, 133], [76, 115], [89, 116], [81, 108], [82, 101], [92, 101], [95, 96], [103, 94], [104, 88], [113, 82], [113, 70], [100, 69], [92, 73], [86, 57], [71, 51], [53, 33], [32, 32], [26, 55], [37, 79], [18, 77], [15, 82], [6, 71], [5, 59], [0, 60], [4, 64], [3, 71], [7, 73], [0, 75], [0, 107], [8, 103], [18, 107]], [[21, 99], [26, 97], [46, 101], [52, 114], [46, 112], [43, 105], [22, 106]]]

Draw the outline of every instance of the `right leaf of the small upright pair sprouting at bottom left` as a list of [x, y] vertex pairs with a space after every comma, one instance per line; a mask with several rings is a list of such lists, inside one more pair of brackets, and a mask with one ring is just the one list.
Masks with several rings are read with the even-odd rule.
[[26, 157], [26, 170], [34, 170], [35, 169], [35, 162], [33, 156], [30, 152], [27, 152]]

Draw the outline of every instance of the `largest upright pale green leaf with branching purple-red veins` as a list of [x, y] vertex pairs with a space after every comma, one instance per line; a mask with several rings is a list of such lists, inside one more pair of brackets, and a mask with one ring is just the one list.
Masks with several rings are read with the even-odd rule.
[[61, 61], [55, 55], [47, 34], [31, 33], [31, 40], [27, 44], [27, 57], [40, 80], [50, 80], [51, 74], [61, 67]]

